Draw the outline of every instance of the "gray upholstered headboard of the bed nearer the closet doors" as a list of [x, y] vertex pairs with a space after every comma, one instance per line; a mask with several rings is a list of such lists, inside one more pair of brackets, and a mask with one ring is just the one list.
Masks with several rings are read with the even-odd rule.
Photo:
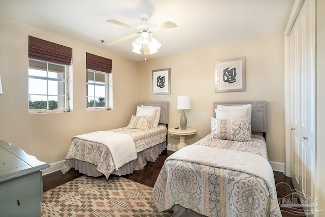
[[217, 105], [234, 106], [234, 105], [252, 105], [252, 119], [250, 125], [252, 132], [267, 132], [267, 108], [266, 101], [235, 101], [235, 102], [213, 102], [213, 116], [215, 117], [214, 109]]

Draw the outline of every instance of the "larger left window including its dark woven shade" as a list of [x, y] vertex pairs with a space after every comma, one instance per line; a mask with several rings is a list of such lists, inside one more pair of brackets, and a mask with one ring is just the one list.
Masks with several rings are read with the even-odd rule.
[[29, 113], [70, 112], [72, 48], [28, 36], [28, 57]]

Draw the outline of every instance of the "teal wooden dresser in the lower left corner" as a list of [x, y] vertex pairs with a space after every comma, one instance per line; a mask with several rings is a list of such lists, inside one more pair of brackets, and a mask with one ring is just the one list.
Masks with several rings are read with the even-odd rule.
[[42, 169], [48, 167], [0, 140], [0, 216], [41, 216]]

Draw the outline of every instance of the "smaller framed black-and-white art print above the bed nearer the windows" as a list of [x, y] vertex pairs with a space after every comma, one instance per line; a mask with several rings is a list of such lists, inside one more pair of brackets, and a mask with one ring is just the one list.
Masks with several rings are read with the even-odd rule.
[[152, 95], [171, 94], [171, 69], [152, 70]]

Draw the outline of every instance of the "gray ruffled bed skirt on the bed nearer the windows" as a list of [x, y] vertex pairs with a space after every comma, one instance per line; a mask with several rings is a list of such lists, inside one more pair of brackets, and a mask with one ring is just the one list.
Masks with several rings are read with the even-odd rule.
[[[141, 152], [138, 152], [137, 159], [128, 162], [127, 164], [124, 164], [118, 170], [114, 170], [112, 174], [121, 176], [126, 174], [132, 174], [135, 170], [143, 170], [147, 162], [155, 162], [156, 159], [159, 157], [159, 154], [163, 152], [163, 150], [165, 150], [166, 148], [166, 142], [162, 142], [160, 144], [147, 148]], [[75, 170], [78, 170], [80, 173], [88, 176], [98, 177], [103, 175], [103, 173], [99, 172], [96, 169], [97, 165], [85, 161], [70, 159], [68, 165], [72, 168], [75, 168]]]

